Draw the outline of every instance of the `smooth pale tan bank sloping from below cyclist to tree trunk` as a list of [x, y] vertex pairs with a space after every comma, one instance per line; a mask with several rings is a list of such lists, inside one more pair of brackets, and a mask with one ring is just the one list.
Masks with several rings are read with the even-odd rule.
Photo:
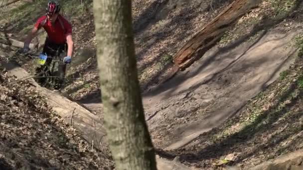
[[81, 135], [89, 143], [94, 141], [94, 147], [104, 149], [106, 147], [106, 131], [103, 122], [97, 115], [61, 95], [60, 92], [51, 91], [39, 86], [17, 62], [1, 62], [1, 67], [8, 71], [9, 76], [15, 76], [17, 80], [27, 79], [42, 96], [46, 98], [47, 104], [52, 107], [63, 120], [78, 129]]

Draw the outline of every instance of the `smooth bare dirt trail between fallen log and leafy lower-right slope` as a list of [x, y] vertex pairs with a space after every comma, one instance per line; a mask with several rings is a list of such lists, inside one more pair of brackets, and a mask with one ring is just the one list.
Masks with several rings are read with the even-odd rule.
[[155, 146], [177, 149], [236, 114], [293, 62], [296, 48], [291, 43], [299, 32], [265, 30], [225, 53], [212, 50], [189, 71], [146, 94]]

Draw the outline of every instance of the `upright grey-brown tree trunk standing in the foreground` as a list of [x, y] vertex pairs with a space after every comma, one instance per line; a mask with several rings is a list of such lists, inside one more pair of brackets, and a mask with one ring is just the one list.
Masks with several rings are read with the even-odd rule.
[[145, 122], [131, 0], [94, 0], [104, 126], [117, 170], [156, 170]]

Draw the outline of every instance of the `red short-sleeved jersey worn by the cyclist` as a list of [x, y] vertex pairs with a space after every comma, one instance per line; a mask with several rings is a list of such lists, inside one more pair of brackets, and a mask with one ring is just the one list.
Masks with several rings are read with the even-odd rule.
[[47, 19], [47, 16], [44, 15], [38, 18], [34, 26], [37, 29], [43, 27], [47, 32], [49, 39], [56, 44], [65, 43], [66, 36], [72, 33], [71, 24], [60, 14], [58, 15], [54, 25], [50, 22], [50, 20]]

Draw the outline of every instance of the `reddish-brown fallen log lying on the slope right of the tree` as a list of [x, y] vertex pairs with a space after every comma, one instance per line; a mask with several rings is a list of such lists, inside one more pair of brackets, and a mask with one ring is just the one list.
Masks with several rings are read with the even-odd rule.
[[[179, 70], [189, 67], [212, 48], [232, 24], [260, 0], [235, 0], [193, 36], [173, 57]], [[174, 69], [176, 71], [176, 69]]]

